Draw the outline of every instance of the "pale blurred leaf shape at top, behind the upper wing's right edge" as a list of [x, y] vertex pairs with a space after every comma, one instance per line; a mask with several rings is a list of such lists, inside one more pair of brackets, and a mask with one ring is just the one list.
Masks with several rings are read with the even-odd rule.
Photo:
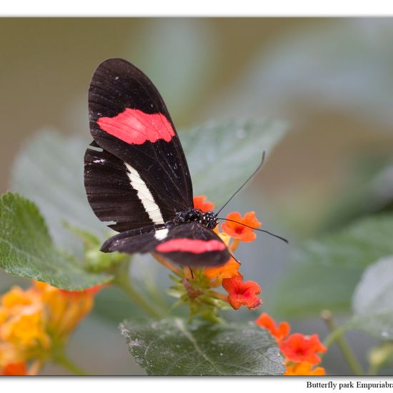
[[132, 39], [131, 56], [154, 82], [175, 124], [195, 116], [195, 103], [209, 86], [217, 64], [215, 34], [209, 23], [192, 19], [147, 19]]

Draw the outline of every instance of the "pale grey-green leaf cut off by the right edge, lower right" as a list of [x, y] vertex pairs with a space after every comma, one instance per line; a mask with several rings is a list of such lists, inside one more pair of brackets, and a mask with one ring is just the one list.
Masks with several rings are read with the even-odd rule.
[[393, 256], [379, 259], [364, 271], [352, 308], [352, 327], [379, 339], [393, 339]]

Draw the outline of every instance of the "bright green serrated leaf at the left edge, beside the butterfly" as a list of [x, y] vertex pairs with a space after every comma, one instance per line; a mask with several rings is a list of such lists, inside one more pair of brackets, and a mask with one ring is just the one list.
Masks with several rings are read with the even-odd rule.
[[11, 192], [0, 199], [0, 267], [9, 274], [75, 290], [109, 282], [109, 274], [91, 274], [51, 241], [36, 205]]

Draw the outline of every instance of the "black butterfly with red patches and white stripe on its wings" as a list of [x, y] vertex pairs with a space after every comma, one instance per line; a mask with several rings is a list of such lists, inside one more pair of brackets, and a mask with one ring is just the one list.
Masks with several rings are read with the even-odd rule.
[[89, 86], [91, 142], [84, 185], [96, 216], [119, 232], [102, 252], [152, 252], [213, 267], [231, 254], [214, 212], [194, 208], [189, 167], [159, 91], [123, 59], [102, 62]]

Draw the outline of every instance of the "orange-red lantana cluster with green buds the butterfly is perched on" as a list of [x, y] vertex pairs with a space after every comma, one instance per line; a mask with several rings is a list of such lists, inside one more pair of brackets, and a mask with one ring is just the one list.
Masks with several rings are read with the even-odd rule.
[[[201, 195], [194, 197], [194, 208], [209, 212], [213, 210], [214, 204]], [[248, 212], [244, 217], [238, 212], [233, 212], [228, 214], [227, 218], [238, 222], [225, 222], [222, 224], [221, 232], [219, 225], [213, 231], [222, 239], [233, 256], [239, 242], [252, 242], [256, 238], [253, 228], [260, 227], [261, 223], [255, 217], [254, 212]], [[243, 224], [249, 227], [244, 227]], [[161, 255], [154, 254], [153, 256], [173, 273], [171, 278], [176, 285], [171, 287], [169, 293], [179, 298], [176, 305], [189, 305], [190, 317], [199, 314], [205, 319], [218, 322], [220, 319], [217, 310], [227, 308], [227, 304], [233, 309], [239, 309], [242, 306], [255, 309], [262, 304], [262, 300], [257, 296], [261, 293], [259, 284], [253, 281], [243, 281], [242, 274], [239, 272], [240, 263], [234, 257], [219, 267], [181, 269]], [[215, 290], [221, 286], [228, 294]]]

